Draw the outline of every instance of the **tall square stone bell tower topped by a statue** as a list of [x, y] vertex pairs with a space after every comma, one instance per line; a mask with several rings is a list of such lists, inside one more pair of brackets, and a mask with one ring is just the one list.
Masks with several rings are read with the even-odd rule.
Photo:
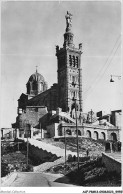
[[75, 107], [76, 99], [77, 111], [80, 113], [82, 111], [82, 43], [79, 44], [79, 48], [75, 48], [73, 43], [74, 34], [72, 32], [72, 14], [67, 12], [65, 18], [66, 30], [63, 48], [56, 46], [58, 104], [64, 112], [71, 113]]

